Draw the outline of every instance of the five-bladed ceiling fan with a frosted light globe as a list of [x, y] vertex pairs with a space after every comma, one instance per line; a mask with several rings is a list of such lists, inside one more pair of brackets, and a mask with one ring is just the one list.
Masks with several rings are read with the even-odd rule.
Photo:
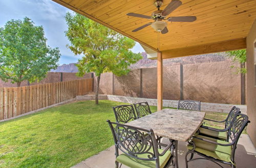
[[137, 14], [137, 13], [127, 13], [126, 15], [128, 16], [134, 16], [134, 17], [140, 17], [140, 18], [145, 18], [145, 19], [153, 19], [155, 20], [154, 22], [146, 23], [137, 29], [133, 30], [132, 32], [137, 32], [143, 28], [145, 28], [148, 25], [151, 25], [154, 30], [157, 32], [161, 32], [162, 34], [168, 33], [167, 29], [167, 21], [170, 22], [192, 22], [197, 20], [196, 16], [176, 16], [176, 17], [168, 17], [165, 19], [167, 15], [172, 13], [175, 9], [177, 9], [179, 6], [181, 6], [182, 2], [179, 0], [173, 0], [170, 2], [167, 7], [164, 10], [160, 10], [160, 7], [163, 4], [163, 0], [157, 0], [155, 2], [155, 6], [157, 7], [157, 11], [152, 13], [152, 16], [146, 16], [142, 14]]

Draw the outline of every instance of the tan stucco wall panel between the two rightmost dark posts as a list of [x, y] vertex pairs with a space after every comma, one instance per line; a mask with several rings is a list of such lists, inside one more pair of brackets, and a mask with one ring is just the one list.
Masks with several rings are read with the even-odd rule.
[[238, 104], [241, 77], [230, 70], [231, 65], [231, 61], [183, 65], [184, 99]]

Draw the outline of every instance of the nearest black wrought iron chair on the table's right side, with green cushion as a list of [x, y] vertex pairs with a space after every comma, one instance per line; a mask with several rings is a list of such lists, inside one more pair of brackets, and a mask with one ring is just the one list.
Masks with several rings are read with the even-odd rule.
[[[207, 159], [215, 162], [219, 166], [221, 165], [218, 162], [236, 167], [236, 163], [234, 162], [234, 154], [237, 148], [238, 139], [248, 123], [250, 123], [250, 121], [246, 115], [237, 115], [236, 120], [231, 123], [230, 129], [228, 130], [230, 142], [221, 141], [219, 139], [202, 135], [193, 136], [187, 145], [188, 152], [185, 155], [186, 167], [188, 167], [189, 161], [197, 159]], [[187, 155], [189, 153], [191, 153], [191, 157], [189, 160], [187, 160]], [[194, 153], [202, 157], [193, 159]]]

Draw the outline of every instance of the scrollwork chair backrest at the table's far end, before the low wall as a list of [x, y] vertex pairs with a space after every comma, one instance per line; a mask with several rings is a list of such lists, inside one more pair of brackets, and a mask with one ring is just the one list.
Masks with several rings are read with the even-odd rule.
[[201, 106], [200, 101], [194, 101], [194, 100], [179, 100], [178, 101], [178, 109], [200, 111], [201, 110], [200, 106]]

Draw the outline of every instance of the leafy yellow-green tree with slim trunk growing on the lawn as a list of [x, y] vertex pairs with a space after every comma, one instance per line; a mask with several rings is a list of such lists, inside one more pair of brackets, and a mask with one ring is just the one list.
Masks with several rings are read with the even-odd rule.
[[142, 59], [141, 54], [133, 53], [135, 41], [105, 27], [80, 14], [66, 14], [68, 37], [67, 45], [76, 55], [83, 55], [76, 65], [78, 76], [94, 72], [97, 76], [95, 103], [98, 104], [100, 75], [113, 72], [117, 76], [127, 74], [131, 64]]

